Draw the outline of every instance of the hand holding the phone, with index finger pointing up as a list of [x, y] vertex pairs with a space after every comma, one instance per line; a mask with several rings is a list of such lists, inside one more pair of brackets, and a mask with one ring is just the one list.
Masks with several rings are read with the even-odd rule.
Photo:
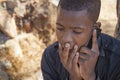
[[96, 30], [93, 31], [92, 49], [82, 47], [79, 56], [80, 75], [84, 80], [95, 80], [95, 66], [99, 56]]

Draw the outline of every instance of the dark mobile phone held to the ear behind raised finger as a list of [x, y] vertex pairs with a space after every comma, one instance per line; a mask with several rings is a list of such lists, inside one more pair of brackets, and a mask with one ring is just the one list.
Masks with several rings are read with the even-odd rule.
[[[100, 33], [101, 33], [101, 29], [97, 28], [96, 26], [93, 27], [93, 30], [96, 29], [97, 31], [97, 38], [99, 37]], [[92, 35], [93, 35], [93, 30], [91, 31], [90, 37], [88, 39], [88, 42], [86, 44], [86, 47], [91, 49], [92, 48]]]

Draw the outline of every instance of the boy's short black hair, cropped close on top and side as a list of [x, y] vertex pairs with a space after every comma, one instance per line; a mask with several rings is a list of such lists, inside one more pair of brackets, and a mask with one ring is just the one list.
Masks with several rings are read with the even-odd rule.
[[87, 10], [88, 17], [96, 22], [100, 14], [100, 0], [60, 0], [58, 7], [68, 11]]

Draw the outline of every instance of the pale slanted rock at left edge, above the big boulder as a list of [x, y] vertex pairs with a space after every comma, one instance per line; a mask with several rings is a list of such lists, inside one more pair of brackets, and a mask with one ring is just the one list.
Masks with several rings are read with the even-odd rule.
[[17, 27], [14, 17], [11, 17], [5, 10], [0, 10], [0, 30], [10, 38], [17, 35]]

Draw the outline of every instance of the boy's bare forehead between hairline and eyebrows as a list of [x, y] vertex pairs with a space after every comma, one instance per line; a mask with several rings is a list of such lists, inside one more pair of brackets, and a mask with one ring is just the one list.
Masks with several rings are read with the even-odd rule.
[[87, 10], [67, 11], [59, 8], [57, 22], [65, 25], [93, 25], [93, 22], [88, 17]]

